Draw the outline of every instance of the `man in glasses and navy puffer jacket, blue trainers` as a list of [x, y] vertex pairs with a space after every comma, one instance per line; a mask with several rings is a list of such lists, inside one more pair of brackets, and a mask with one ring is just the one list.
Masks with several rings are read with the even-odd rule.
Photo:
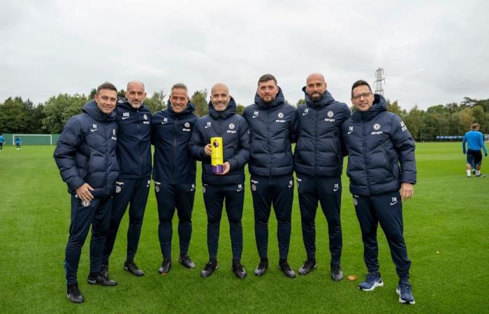
[[416, 184], [414, 140], [404, 122], [386, 111], [383, 96], [373, 94], [370, 85], [357, 81], [351, 87], [351, 103], [356, 111], [342, 125], [348, 150], [346, 174], [360, 223], [363, 257], [368, 274], [358, 287], [371, 291], [384, 285], [377, 260], [377, 226], [391, 248], [399, 276], [396, 292], [402, 303], [414, 304], [409, 284], [409, 267], [402, 222], [402, 201], [413, 195]]

